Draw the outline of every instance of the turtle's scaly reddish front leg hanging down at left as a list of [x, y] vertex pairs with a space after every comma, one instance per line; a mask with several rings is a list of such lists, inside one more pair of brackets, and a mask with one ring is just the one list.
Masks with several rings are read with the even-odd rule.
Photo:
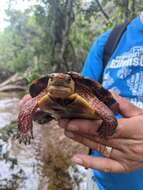
[[33, 139], [32, 116], [37, 108], [37, 98], [31, 98], [21, 106], [18, 115], [18, 133], [16, 135], [20, 143], [30, 144], [31, 139]]

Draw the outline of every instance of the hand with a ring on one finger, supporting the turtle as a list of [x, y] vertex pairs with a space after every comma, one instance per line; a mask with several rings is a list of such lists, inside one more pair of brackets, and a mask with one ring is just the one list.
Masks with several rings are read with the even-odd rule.
[[[77, 154], [72, 158], [75, 163], [104, 172], [130, 172], [143, 167], [143, 110], [120, 96], [114, 97], [124, 118], [118, 120], [116, 133], [107, 139], [97, 136], [99, 121], [61, 120], [59, 124], [66, 136], [105, 156]], [[112, 147], [110, 155], [106, 147]]]

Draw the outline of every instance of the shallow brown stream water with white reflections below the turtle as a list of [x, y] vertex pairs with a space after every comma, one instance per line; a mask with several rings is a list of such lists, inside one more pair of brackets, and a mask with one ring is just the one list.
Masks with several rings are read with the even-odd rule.
[[[27, 146], [12, 138], [16, 129], [19, 97], [18, 93], [0, 93], [0, 189], [86, 190], [86, 171], [71, 166], [69, 158], [63, 157], [65, 152], [62, 151], [70, 143], [56, 124], [51, 124], [52, 131], [35, 124], [35, 139]], [[54, 138], [58, 140], [54, 141]], [[60, 146], [62, 151], [59, 151]]]

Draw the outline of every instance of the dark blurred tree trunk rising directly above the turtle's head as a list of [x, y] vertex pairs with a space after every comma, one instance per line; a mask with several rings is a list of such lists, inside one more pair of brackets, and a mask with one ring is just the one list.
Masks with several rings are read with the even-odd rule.
[[66, 0], [62, 5], [59, 0], [49, 1], [54, 14], [54, 20], [52, 23], [54, 26], [52, 31], [54, 35], [52, 64], [54, 66], [54, 71], [56, 72], [65, 72], [70, 69], [70, 65], [66, 57], [68, 57], [67, 51], [69, 50], [69, 45], [71, 43], [69, 40], [69, 34], [71, 25], [74, 21], [74, 1], [75, 0]]

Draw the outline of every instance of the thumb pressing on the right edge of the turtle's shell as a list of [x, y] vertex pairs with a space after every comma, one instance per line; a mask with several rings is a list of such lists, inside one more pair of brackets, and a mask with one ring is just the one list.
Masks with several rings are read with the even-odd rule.
[[125, 117], [134, 117], [143, 114], [143, 110], [130, 103], [127, 99], [112, 92], [113, 97], [119, 103], [119, 112]]

